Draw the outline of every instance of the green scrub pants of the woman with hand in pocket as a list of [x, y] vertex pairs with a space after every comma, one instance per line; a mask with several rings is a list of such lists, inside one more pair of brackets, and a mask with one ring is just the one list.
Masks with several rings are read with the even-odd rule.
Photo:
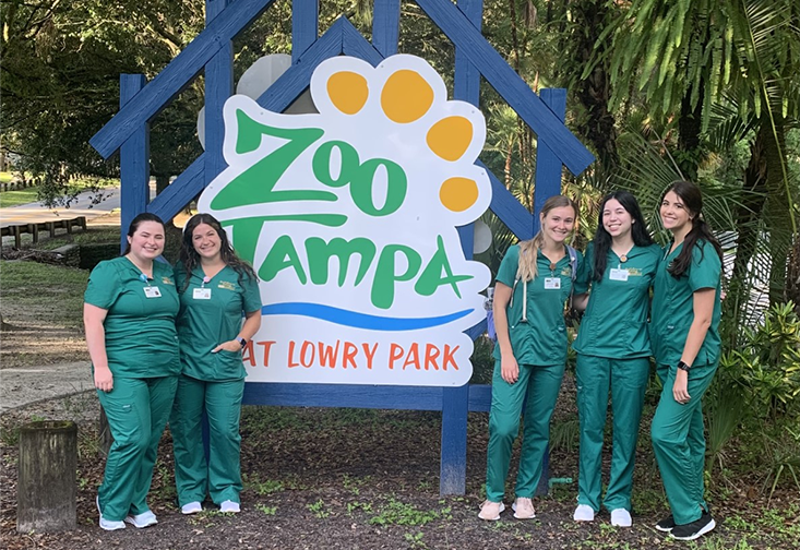
[[[178, 503], [203, 502], [206, 492], [220, 504], [239, 502], [241, 435], [239, 418], [244, 380], [202, 381], [181, 375], [169, 429], [175, 452]], [[205, 458], [201, 419], [208, 417], [208, 459]]]

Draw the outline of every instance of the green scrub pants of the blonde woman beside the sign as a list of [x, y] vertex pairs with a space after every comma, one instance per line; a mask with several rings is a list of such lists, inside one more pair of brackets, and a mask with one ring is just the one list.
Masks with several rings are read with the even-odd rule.
[[550, 418], [563, 376], [563, 364], [521, 364], [518, 380], [509, 384], [500, 375], [500, 361], [494, 362], [486, 458], [486, 498], [491, 502], [503, 500], [511, 450], [520, 434], [521, 414], [524, 414], [525, 425], [514, 492], [516, 497], [534, 497], [541, 478], [541, 463], [550, 440]]

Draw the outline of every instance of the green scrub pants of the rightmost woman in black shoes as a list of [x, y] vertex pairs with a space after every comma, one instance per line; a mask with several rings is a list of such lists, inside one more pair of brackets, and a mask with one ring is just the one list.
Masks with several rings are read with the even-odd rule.
[[700, 518], [707, 510], [703, 485], [705, 435], [702, 398], [717, 371], [717, 363], [694, 367], [689, 371], [689, 403], [681, 405], [672, 396], [676, 367], [658, 366], [664, 382], [661, 398], [650, 429], [653, 451], [661, 473], [664, 489], [674, 523], [683, 525]]

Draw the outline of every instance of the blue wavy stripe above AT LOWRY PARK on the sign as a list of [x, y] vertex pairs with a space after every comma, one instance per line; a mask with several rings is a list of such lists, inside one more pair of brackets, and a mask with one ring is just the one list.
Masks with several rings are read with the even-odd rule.
[[416, 331], [447, 324], [457, 319], [468, 315], [473, 310], [456, 311], [446, 315], [433, 318], [397, 319], [379, 315], [370, 315], [349, 311], [320, 303], [286, 302], [272, 303], [261, 308], [262, 315], [302, 315], [321, 319], [331, 323], [353, 326], [355, 328], [369, 328], [371, 331]]

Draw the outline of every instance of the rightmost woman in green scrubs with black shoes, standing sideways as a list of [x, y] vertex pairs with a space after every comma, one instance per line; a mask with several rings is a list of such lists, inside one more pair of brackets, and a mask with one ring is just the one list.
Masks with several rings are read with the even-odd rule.
[[716, 526], [704, 499], [701, 399], [719, 364], [723, 249], [694, 183], [672, 183], [660, 215], [672, 241], [653, 290], [650, 338], [664, 390], [650, 432], [672, 515], [656, 528], [694, 540]]

